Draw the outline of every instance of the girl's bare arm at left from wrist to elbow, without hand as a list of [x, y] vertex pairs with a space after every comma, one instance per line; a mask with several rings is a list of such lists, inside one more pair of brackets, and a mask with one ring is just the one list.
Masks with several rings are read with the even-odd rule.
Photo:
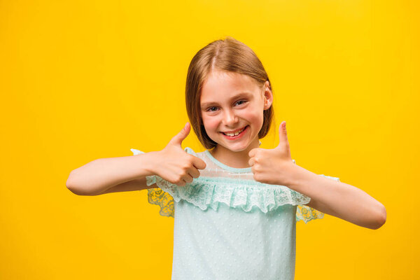
[[158, 152], [119, 158], [99, 158], [70, 172], [66, 187], [76, 195], [102, 195], [130, 190], [157, 188], [146, 185], [154, 175]]

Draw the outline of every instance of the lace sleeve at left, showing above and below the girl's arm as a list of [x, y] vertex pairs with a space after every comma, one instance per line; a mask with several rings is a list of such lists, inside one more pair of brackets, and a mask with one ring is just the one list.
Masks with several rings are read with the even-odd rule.
[[[144, 153], [134, 148], [132, 148], [131, 151], [134, 155], [140, 155], [141, 153]], [[190, 155], [195, 155], [195, 152], [193, 151], [192, 148], [186, 147], [184, 151], [186, 151]], [[154, 183], [156, 183], [157, 178], [158, 176], [155, 176], [155, 175], [146, 176], [147, 186], [151, 186]], [[169, 193], [163, 191], [161, 188], [148, 188], [147, 191], [148, 191], [147, 193], [148, 202], [150, 204], [155, 204], [160, 207], [160, 211], [159, 211], [160, 216], [174, 218], [174, 214], [175, 214], [174, 197], [172, 197], [172, 195], [169, 195]]]

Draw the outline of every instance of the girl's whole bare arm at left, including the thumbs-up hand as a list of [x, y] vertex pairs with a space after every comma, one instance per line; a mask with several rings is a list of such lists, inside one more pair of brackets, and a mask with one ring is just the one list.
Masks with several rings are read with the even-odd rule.
[[190, 124], [176, 134], [162, 151], [120, 158], [100, 158], [70, 172], [66, 186], [76, 195], [102, 195], [130, 190], [158, 188], [146, 185], [146, 176], [157, 175], [178, 186], [198, 178], [206, 163], [181, 148]]

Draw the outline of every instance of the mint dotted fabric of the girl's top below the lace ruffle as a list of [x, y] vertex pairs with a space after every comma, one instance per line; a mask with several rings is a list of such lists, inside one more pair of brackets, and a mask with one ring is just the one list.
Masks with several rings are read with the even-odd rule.
[[175, 202], [172, 279], [294, 279], [295, 211]]

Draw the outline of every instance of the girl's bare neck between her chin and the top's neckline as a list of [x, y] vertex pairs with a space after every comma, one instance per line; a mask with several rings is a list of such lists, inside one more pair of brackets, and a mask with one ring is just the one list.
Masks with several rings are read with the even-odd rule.
[[248, 164], [249, 161], [249, 151], [253, 148], [259, 148], [259, 139], [255, 139], [252, 144], [250, 144], [244, 151], [230, 151], [228, 148], [225, 148], [221, 145], [217, 145], [211, 151], [211, 155], [213, 155], [216, 160], [222, 162], [223, 165], [228, 165], [228, 167], [234, 168], [248, 168], [250, 165]]

